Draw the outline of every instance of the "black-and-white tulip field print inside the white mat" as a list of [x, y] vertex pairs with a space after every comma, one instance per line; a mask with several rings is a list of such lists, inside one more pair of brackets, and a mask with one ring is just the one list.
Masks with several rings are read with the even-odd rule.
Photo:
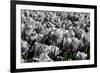
[[90, 59], [90, 13], [21, 10], [22, 62]]

